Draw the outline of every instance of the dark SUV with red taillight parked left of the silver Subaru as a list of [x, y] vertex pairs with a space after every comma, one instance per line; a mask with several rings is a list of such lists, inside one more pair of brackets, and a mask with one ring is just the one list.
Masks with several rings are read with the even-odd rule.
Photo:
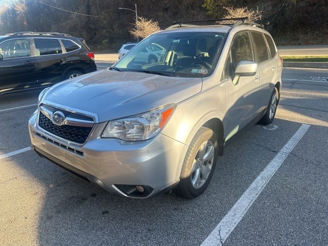
[[49, 87], [96, 70], [94, 54], [81, 38], [35, 32], [0, 36], [0, 94]]

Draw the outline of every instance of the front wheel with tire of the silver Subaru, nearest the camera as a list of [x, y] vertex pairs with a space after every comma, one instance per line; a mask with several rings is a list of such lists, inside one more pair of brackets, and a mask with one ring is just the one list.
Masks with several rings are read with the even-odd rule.
[[177, 195], [193, 199], [208, 187], [216, 166], [218, 143], [215, 133], [206, 127], [194, 136], [183, 161]]

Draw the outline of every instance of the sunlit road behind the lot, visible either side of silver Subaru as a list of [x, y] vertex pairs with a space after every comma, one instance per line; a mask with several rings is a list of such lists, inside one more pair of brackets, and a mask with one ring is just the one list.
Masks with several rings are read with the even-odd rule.
[[[304, 55], [328, 55], [328, 45], [314, 46], [280, 46], [278, 47], [280, 55], [304, 56]], [[96, 61], [101, 63], [116, 63], [118, 53], [96, 54]]]

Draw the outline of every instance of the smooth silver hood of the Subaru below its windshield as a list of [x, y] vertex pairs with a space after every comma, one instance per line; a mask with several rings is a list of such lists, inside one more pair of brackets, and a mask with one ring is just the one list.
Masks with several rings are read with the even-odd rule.
[[43, 100], [97, 114], [103, 122], [177, 104], [201, 87], [201, 78], [102, 70], [52, 86]]

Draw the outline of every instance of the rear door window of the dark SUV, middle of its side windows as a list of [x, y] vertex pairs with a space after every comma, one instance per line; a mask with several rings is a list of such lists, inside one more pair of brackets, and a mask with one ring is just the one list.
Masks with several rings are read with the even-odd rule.
[[61, 54], [61, 46], [55, 38], [34, 38], [36, 56]]

